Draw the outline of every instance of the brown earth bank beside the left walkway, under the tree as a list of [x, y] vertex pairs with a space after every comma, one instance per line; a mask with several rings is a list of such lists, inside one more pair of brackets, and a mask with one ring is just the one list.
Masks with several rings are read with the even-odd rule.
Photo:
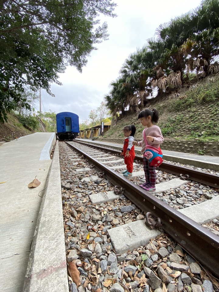
[[16, 138], [33, 133], [34, 132], [27, 130], [16, 118], [16, 115], [12, 112], [8, 115], [8, 123], [0, 123], [0, 142], [9, 142]]

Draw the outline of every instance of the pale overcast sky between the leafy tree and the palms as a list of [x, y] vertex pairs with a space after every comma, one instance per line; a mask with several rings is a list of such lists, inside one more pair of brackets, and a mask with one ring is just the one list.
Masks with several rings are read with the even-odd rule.
[[[156, 28], [175, 16], [180, 16], [200, 4], [200, 0], [114, 0], [117, 3], [116, 18], [100, 16], [108, 23], [109, 40], [97, 44], [86, 67], [79, 73], [68, 67], [60, 75], [62, 86], [52, 84], [51, 97], [42, 90], [43, 109], [56, 113], [69, 111], [78, 114], [80, 120], [88, 118], [91, 109], [103, 101], [109, 92], [109, 82], [115, 80], [119, 70], [131, 52], [142, 47], [154, 36]], [[39, 107], [38, 107], [39, 109]]]

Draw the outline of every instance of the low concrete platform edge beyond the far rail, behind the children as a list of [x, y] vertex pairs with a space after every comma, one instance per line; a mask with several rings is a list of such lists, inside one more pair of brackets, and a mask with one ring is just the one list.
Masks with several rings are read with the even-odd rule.
[[[121, 150], [122, 144], [114, 144], [103, 141], [92, 141], [89, 139], [75, 139], [76, 141], [86, 142], [89, 144], [96, 144], [98, 146], [115, 148]], [[216, 156], [207, 156], [207, 155], [193, 155], [189, 153], [182, 153], [176, 151], [162, 150], [163, 159], [173, 162], [179, 162], [181, 164], [191, 164], [196, 167], [212, 169], [219, 171], [219, 157]], [[135, 153], [141, 155], [141, 147], [135, 147]]]

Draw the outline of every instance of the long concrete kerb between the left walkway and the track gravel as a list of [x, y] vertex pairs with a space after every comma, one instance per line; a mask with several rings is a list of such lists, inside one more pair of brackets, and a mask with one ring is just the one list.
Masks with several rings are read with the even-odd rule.
[[58, 141], [31, 245], [23, 292], [68, 292]]

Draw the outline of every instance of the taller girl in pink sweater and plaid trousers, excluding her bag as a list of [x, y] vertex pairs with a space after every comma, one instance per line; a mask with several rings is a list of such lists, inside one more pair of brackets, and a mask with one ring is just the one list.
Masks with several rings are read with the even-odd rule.
[[[141, 153], [144, 155], [146, 142], [144, 140], [144, 131], [147, 140], [147, 144], [151, 145], [155, 148], [159, 148], [160, 144], [163, 143], [164, 138], [161, 133], [161, 129], [155, 125], [158, 122], [159, 114], [157, 109], [144, 109], [139, 115], [138, 119], [141, 120], [141, 124], [143, 127], [146, 127], [143, 132], [143, 140], [140, 142], [134, 141], [133, 144], [135, 146], [141, 146]], [[150, 161], [144, 157], [144, 173], [146, 182], [144, 182], [140, 187], [148, 192], [154, 192], [156, 190], [156, 172], [155, 167], [150, 165]]]

